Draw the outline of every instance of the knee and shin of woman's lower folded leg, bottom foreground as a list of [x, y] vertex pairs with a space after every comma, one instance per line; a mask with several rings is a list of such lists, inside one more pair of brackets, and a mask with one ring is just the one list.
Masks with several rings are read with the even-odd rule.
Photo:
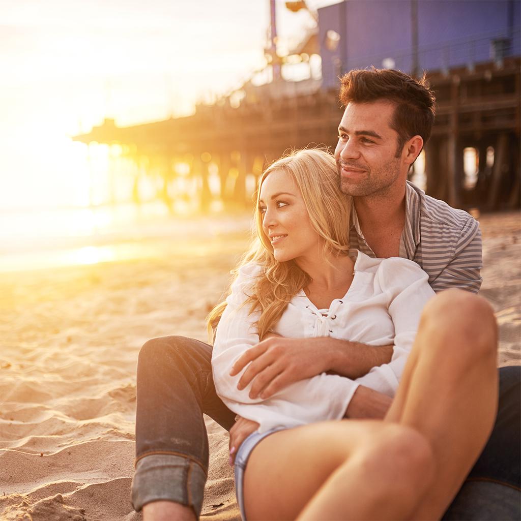
[[[382, 427], [381, 422], [378, 427]], [[398, 426], [395, 426], [398, 427]], [[323, 483], [298, 519], [410, 519], [434, 473], [429, 443], [413, 429], [382, 429]]]

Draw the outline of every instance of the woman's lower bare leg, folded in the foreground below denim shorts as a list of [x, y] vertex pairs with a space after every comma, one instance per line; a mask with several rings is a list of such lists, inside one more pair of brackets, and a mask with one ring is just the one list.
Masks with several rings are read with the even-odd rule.
[[432, 467], [421, 435], [382, 421], [328, 421], [275, 432], [257, 445], [246, 467], [247, 518], [406, 518], [427, 490]]

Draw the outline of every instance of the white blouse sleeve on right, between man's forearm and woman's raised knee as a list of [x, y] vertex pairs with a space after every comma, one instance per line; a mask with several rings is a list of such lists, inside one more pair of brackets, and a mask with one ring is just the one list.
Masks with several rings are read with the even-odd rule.
[[434, 296], [429, 276], [415, 262], [391, 257], [382, 261], [377, 277], [387, 294], [394, 324], [394, 349], [388, 364], [373, 367], [355, 381], [375, 391], [394, 396], [416, 338], [423, 306]]

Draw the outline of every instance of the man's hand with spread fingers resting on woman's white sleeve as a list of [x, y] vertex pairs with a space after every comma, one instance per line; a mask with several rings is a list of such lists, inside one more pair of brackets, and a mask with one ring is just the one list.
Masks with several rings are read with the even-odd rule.
[[250, 364], [237, 389], [244, 389], [253, 381], [250, 398], [259, 395], [263, 400], [270, 398], [290, 383], [320, 375], [330, 368], [327, 353], [320, 349], [322, 340], [270, 337], [248, 349], [235, 362], [230, 375], [235, 376]]

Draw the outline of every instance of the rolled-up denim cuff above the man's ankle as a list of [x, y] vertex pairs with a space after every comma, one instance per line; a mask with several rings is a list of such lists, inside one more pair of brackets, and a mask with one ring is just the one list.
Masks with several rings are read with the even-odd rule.
[[175, 501], [191, 506], [199, 518], [207, 474], [188, 457], [150, 454], [136, 464], [132, 480], [132, 506], [140, 511], [152, 501]]

